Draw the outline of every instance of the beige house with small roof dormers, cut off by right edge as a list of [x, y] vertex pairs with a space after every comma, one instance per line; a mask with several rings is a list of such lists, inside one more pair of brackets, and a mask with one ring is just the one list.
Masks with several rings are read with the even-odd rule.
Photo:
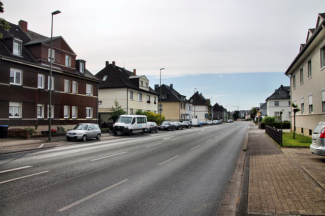
[[[306, 136], [319, 121], [325, 121], [325, 13], [318, 14], [316, 28], [309, 29], [306, 44], [286, 70], [290, 77], [291, 101], [301, 109], [296, 113], [296, 133]], [[291, 129], [294, 125], [291, 112]]]

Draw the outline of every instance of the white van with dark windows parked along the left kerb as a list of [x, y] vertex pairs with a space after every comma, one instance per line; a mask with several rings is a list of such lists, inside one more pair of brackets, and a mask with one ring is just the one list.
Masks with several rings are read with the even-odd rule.
[[120, 115], [113, 125], [113, 134], [128, 134], [140, 132], [144, 134], [147, 128], [147, 116], [145, 115]]

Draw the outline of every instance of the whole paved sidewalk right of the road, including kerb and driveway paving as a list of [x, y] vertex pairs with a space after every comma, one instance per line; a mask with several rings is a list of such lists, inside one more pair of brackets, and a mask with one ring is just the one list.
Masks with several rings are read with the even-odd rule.
[[324, 157], [279, 148], [253, 123], [247, 137], [218, 215], [325, 215]]

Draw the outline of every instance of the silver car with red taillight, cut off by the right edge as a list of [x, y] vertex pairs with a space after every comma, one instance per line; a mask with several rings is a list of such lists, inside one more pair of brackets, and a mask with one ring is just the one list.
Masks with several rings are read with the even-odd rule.
[[309, 149], [313, 154], [325, 156], [325, 121], [319, 122], [315, 127]]

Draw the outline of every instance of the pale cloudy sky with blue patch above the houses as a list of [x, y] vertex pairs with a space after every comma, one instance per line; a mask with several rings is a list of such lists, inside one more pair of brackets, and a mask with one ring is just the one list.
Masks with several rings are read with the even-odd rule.
[[196, 91], [230, 111], [264, 103], [290, 85], [284, 72], [305, 44], [324, 0], [1, 0], [0, 17], [62, 36], [96, 74], [105, 62], [149, 85], [170, 85], [189, 99]]

